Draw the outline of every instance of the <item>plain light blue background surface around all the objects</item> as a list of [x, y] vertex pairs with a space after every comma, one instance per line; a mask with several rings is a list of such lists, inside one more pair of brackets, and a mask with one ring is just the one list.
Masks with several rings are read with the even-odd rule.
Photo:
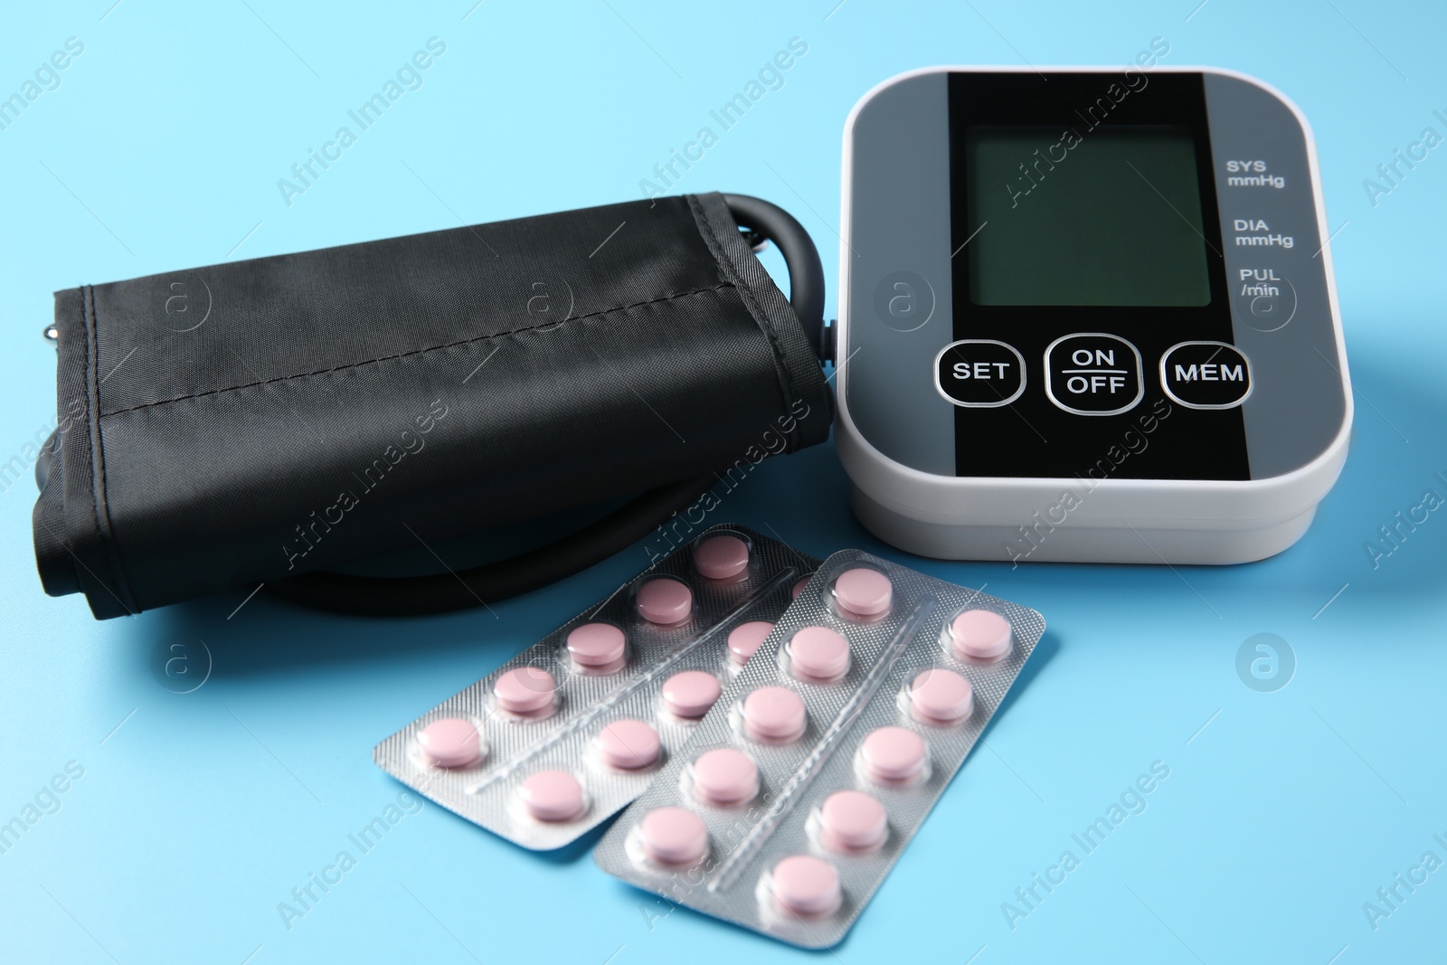
[[[1346, 226], [1334, 252], [1359, 391], [1346, 473], [1301, 544], [1255, 566], [1011, 571], [906, 558], [987, 582], [1051, 629], [987, 747], [832, 955], [1447, 955], [1447, 870], [1376, 930], [1362, 910], [1422, 852], [1447, 859], [1433, 841], [1447, 838], [1447, 511], [1378, 569], [1365, 550], [1425, 489], [1447, 495], [1434, 476], [1447, 475], [1447, 148], [1376, 207], [1362, 187], [1422, 127], [1447, 133], [1433, 117], [1447, 113], [1440, 4], [1208, 0], [1192, 14], [1197, 0], [848, 0], [831, 13], [835, 0], [488, 0], [469, 14], [472, 0], [110, 3], [10, 3], [3, 14], [0, 95], [67, 38], [85, 52], [0, 132], [0, 459], [54, 417], [54, 352], [39, 337], [54, 289], [637, 197], [640, 178], [792, 36], [809, 52], [784, 88], [679, 187], [783, 204], [825, 250], [831, 288], [844, 119], [891, 74], [1126, 64], [1162, 36], [1166, 64], [1281, 87], [1314, 124], [1331, 226]], [[284, 204], [276, 179], [430, 36], [447, 52], [424, 87]], [[663, 916], [586, 846], [538, 856], [434, 806], [291, 930], [276, 911], [399, 791], [372, 765], [373, 742], [611, 590], [641, 553], [496, 616], [344, 619], [263, 593], [229, 619], [237, 593], [97, 624], [80, 598], [41, 593], [33, 496], [29, 480], [0, 493], [0, 820], [68, 761], [84, 777], [0, 854], [4, 961], [803, 959], [687, 910]], [[819, 556], [890, 554], [852, 521], [832, 447], [771, 460], [725, 515]], [[1298, 660], [1276, 693], [1236, 674], [1237, 647], [1257, 632], [1285, 638]], [[158, 686], [156, 648], [197, 639], [214, 657], [210, 680], [190, 694]], [[1011, 930], [1001, 903], [1152, 761], [1171, 777], [1149, 809]]]

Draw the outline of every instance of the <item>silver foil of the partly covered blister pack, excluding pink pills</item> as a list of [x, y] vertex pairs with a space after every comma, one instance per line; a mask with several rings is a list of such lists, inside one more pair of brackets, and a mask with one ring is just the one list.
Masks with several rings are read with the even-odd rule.
[[[708, 579], [699, 571], [695, 548], [718, 535], [732, 535], [748, 545], [742, 573]], [[818, 564], [819, 560], [744, 527], [712, 527], [383, 739], [372, 758], [418, 793], [524, 848], [550, 851], [572, 843], [641, 794], [697, 729], [700, 719], [676, 716], [664, 706], [664, 683], [673, 674], [696, 670], [713, 674], [726, 690], [739, 671], [726, 654], [729, 632], [745, 622], [777, 619], [789, 608], [796, 584]], [[693, 605], [687, 619], [657, 625], [638, 615], [637, 593], [655, 579], [689, 586]], [[569, 635], [586, 624], [622, 631], [621, 666], [585, 667], [573, 660]], [[522, 670], [531, 681], [535, 673], [524, 668], [547, 671], [556, 689], [540, 710], [512, 713], [501, 706], [495, 686], [515, 670]], [[660, 754], [654, 764], [625, 770], [603, 760], [599, 734], [625, 719], [644, 720], [657, 731]], [[479, 758], [454, 767], [436, 764], [418, 738], [440, 720], [470, 723], [480, 735]], [[582, 813], [543, 820], [530, 812], [521, 788], [544, 771], [569, 774], [582, 786]]]

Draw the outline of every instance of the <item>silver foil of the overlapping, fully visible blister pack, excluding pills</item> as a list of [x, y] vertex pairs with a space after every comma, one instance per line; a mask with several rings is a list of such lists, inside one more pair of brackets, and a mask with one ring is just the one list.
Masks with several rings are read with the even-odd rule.
[[[883, 615], [860, 618], [838, 605], [836, 579], [858, 569], [888, 577], [893, 602]], [[984, 611], [985, 616], [972, 613], [959, 626], [998, 625], [990, 615], [1009, 622], [1010, 644], [1003, 655], [977, 658], [956, 652], [951, 628], [956, 618], [974, 611]], [[800, 680], [794, 673], [792, 641], [812, 626], [831, 628], [848, 641], [849, 667], [833, 683]], [[676, 904], [793, 945], [838, 943], [964, 764], [1043, 632], [1045, 619], [1033, 609], [860, 550], [835, 553], [719, 697], [693, 742], [673, 755], [653, 786], [603, 836], [595, 851], [599, 867]], [[946, 680], [933, 677], [939, 670], [969, 681], [968, 716], [954, 722], [916, 716], [912, 684], [926, 671], [936, 683]], [[750, 734], [745, 702], [763, 687], [783, 687], [803, 700], [807, 722], [802, 736], [780, 742]], [[883, 765], [874, 758], [864, 760], [864, 742], [880, 728], [903, 728], [923, 739], [926, 754], [917, 774], [900, 781], [871, 774], [870, 761], [873, 767]], [[752, 800], [718, 806], [697, 797], [695, 762], [721, 748], [741, 751], [757, 765], [758, 791]], [[820, 819], [822, 806], [836, 791], [862, 791], [884, 806], [883, 842], [841, 849], [836, 835], [831, 845]], [[644, 826], [650, 815], [667, 815], [670, 833], [696, 825], [667, 809], [702, 819], [706, 829], [702, 856], [683, 856], [673, 864], [651, 856], [658, 848], [654, 842], [650, 851]], [[680, 839], [670, 838], [666, 854], [682, 854]], [[829, 910], [825, 903], [815, 910], [802, 903], [807, 910], [799, 913], [780, 901], [774, 870], [797, 855], [822, 859], [833, 868], [839, 885], [836, 907]], [[810, 883], [807, 875], [805, 883]], [[813, 897], [818, 894], [822, 891]], [[800, 890], [796, 878], [789, 897], [802, 901], [800, 896], [810, 897], [810, 891]]]

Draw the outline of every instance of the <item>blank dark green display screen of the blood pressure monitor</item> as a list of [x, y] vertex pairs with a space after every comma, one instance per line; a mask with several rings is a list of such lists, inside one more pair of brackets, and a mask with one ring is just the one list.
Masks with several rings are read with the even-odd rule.
[[1188, 129], [975, 124], [965, 161], [975, 304], [1210, 304]]

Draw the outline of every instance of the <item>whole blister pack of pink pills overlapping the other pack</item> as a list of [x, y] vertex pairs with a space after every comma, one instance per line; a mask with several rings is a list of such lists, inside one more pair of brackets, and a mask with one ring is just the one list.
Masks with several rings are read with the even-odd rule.
[[803, 948], [854, 924], [1030, 657], [1036, 611], [831, 556], [599, 867]]

